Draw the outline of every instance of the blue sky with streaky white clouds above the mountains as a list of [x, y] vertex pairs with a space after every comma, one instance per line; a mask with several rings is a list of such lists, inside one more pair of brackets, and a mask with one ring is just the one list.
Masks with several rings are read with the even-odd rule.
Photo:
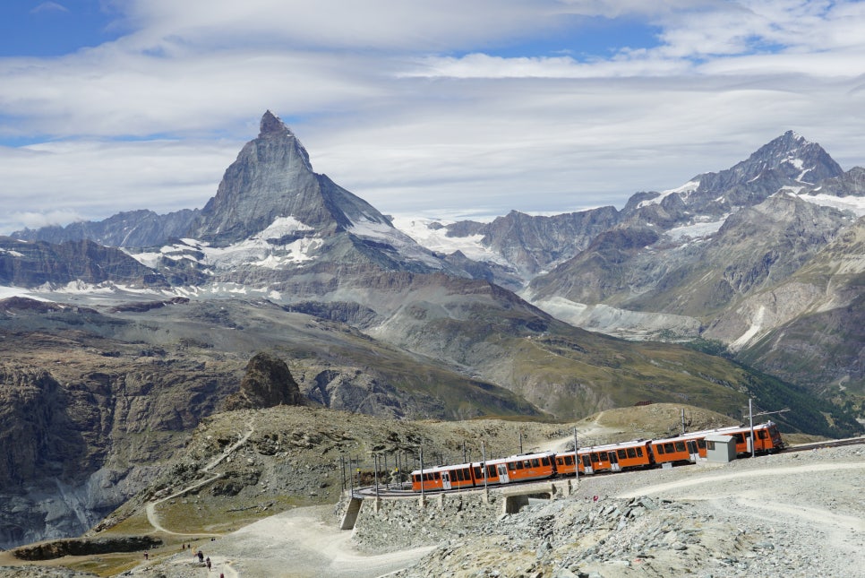
[[787, 130], [865, 166], [865, 2], [4, 0], [0, 234], [202, 207], [261, 115], [397, 216], [621, 208]]

